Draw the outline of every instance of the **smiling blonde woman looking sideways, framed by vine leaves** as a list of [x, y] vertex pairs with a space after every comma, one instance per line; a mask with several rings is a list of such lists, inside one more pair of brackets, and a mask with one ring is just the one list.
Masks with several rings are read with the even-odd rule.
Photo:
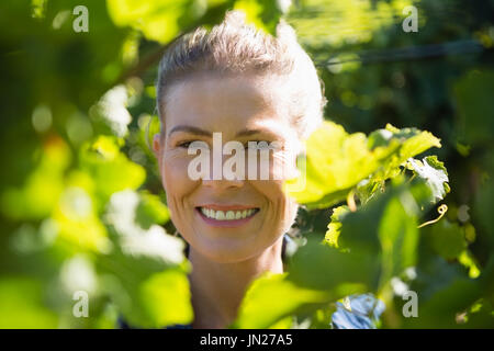
[[[171, 220], [189, 245], [192, 327], [225, 328], [254, 279], [283, 272], [283, 235], [299, 206], [283, 181], [323, 121], [319, 80], [288, 24], [273, 37], [229, 12], [210, 32], [198, 29], [175, 42], [161, 59], [157, 92], [161, 132], [154, 150]], [[213, 158], [212, 178], [191, 177], [191, 146], [199, 143], [210, 157], [209, 148], [222, 150], [223, 141], [278, 143], [269, 162], [237, 158], [234, 167], [270, 177], [217, 177], [224, 155]]]

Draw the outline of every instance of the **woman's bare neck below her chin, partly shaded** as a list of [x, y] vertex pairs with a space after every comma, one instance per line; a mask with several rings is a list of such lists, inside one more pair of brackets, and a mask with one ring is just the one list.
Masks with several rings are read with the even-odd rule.
[[211, 261], [190, 247], [189, 275], [193, 328], [222, 329], [228, 327], [236, 316], [249, 283], [261, 273], [283, 272], [281, 251], [283, 236], [259, 256], [235, 263]]

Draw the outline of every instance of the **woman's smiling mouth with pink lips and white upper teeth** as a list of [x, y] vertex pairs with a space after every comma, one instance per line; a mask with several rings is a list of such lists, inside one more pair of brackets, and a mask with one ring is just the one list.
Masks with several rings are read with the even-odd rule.
[[252, 219], [260, 210], [252, 206], [211, 205], [195, 207], [195, 212], [213, 227], [238, 227]]

